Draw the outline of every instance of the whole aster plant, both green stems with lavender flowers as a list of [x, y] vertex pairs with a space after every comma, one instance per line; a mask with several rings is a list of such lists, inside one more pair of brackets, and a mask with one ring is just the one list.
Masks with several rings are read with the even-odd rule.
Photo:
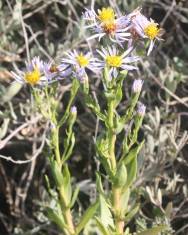
[[[65, 53], [60, 64], [44, 62], [35, 57], [31, 63], [26, 63], [25, 69], [12, 72], [16, 81], [30, 85], [37, 107], [50, 126], [47, 143], [54, 181], [50, 182], [46, 176], [46, 182], [49, 195], [54, 200], [54, 207], [47, 206], [47, 215], [67, 235], [81, 234], [91, 218], [95, 220], [99, 234], [157, 235], [165, 230], [165, 225], [155, 226], [141, 233], [131, 232], [128, 226], [129, 221], [140, 210], [134, 182], [138, 171], [137, 158], [144, 145], [144, 140], [138, 141], [146, 111], [145, 105], [139, 101], [143, 88], [141, 79], [132, 81], [130, 99], [123, 111], [119, 112], [119, 106], [123, 102], [128, 72], [138, 69], [138, 43], [148, 41], [147, 54], [150, 54], [155, 41], [161, 39], [162, 29], [153, 20], [147, 19], [140, 9], [128, 15], [118, 15], [110, 7], [97, 12], [86, 9], [83, 19], [85, 27], [91, 32], [89, 40], [99, 39], [98, 47], [93, 53], [70, 51]], [[109, 40], [102, 41], [105, 37]], [[89, 70], [101, 78], [104, 99], [102, 102], [92, 96]], [[60, 116], [58, 86], [67, 77], [71, 78], [72, 87], [64, 114]], [[72, 185], [67, 161], [75, 144], [73, 126], [77, 109], [73, 106], [73, 101], [79, 88], [85, 105], [100, 120], [102, 130], [94, 143], [99, 162], [96, 172], [96, 202], [76, 219], [74, 205], [79, 190]], [[104, 101], [106, 107], [102, 106]], [[66, 126], [66, 131], [61, 151], [59, 131], [63, 125]], [[121, 140], [119, 146], [117, 139]], [[104, 187], [106, 182], [108, 189]]]

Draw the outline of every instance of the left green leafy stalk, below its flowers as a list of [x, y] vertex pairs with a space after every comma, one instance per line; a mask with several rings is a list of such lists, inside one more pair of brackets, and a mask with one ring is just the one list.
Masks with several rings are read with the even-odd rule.
[[[72, 112], [71, 106], [77, 94], [78, 88], [79, 83], [75, 79], [70, 91], [68, 105], [63, 117], [60, 120], [58, 120], [57, 115], [58, 102], [55, 99], [56, 90], [45, 88], [43, 91], [40, 91], [42, 95], [39, 93], [39, 91], [34, 91], [34, 97], [41, 113], [46, 119], [50, 120], [52, 124], [50, 142], [52, 153], [50, 156], [50, 166], [55, 180], [58, 199], [56, 200], [57, 208], [54, 211], [52, 211], [52, 208], [48, 208], [47, 213], [50, 220], [54, 221], [62, 230], [62, 232], [67, 235], [74, 235], [76, 231], [71, 214], [71, 206], [73, 205], [73, 201], [75, 202], [75, 197], [78, 195], [78, 193], [74, 193], [72, 195], [71, 176], [66, 164], [66, 160], [70, 157], [75, 144], [73, 125], [76, 120], [77, 112]], [[46, 100], [46, 105], [43, 105], [43, 99]], [[66, 121], [68, 127], [64, 140], [64, 152], [61, 153], [59, 133], [60, 127], [65, 124]]]

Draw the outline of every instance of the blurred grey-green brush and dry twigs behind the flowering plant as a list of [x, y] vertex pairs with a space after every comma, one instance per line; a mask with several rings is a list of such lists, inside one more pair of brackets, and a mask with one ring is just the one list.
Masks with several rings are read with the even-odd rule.
[[[165, 29], [164, 41], [152, 55], [144, 57], [140, 71], [130, 73], [144, 79], [142, 102], [147, 106], [141, 138], [145, 147], [139, 156], [137, 195], [142, 210], [130, 226], [160, 223], [167, 216], [171, 229], [164, 234], [188, 234], [188, 2], [187, 0], [1, 0], [0, 1], [0, 235], [55, 235], [45, 217], [41, 201], [49, 200], [44, 175], [49, 174], [44, 138], [48, 131], [36, 114], [28, 87], [12, 83], [10, 71], [35, 55], [57, 62], [69, 49], [92, 49], [81, 14], [85, 7], [110, 5], [126, 14], [142, 6], [146, 16]], [[141, 53], [141, 52], [140, 52]], [[101, 99], [100, 79], [90, 78], [93, 93]], [[59, 100], [67, 102], [70, 81], [63, 81]], [[130, 87], [125, 87], [125, 98]], [[126, 99], [125, 99], [126, 100]], [[77, 144], [70, 160], [71, 172], [81, 192], [77, 213], [94, 200], [95, 149], [93, 137], [100, 124], [76, 99]], [[125, 103], [120, 111], [125, 108]], [[61, 141], [63, 141], [63, 134]], [[33, 159], [28, 164], [15, 161]], [[34, 157], [33, 157], [34, 156]], [[20, 163], [20, 162], [17, 162]], [[174, 231], [173, 231], [174, 230]], [[90, 222], [84, 234], [97, 234]]]

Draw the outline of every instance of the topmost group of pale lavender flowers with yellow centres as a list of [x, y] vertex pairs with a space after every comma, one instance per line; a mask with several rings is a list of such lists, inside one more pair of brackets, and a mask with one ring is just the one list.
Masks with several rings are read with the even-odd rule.
[[128, 41], [132, 46], [137, 39], [149, 39], [148, 55], [151, 53], [156, 40], [161, 40], [163, 30], [152, 19], [148, 19], [138, 8], [128, 15], [116, 16], [110, 7], [102, 8], [96, 13], [86, 9], [83, 14], [87, 28], [91, 28], [93, 35], [89, 39], [107, 36], [113, 42], [123, 47], [122, 43]]

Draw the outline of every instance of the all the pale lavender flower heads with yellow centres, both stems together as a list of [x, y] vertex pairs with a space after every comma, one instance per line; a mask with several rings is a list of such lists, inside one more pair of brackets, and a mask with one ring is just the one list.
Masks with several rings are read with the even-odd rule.
[[[133, 51], [138, 39], [150, 41], [148, 54], [151, 53], [155, 41], [161, 39], [162, 29], [153, 20], [147, 19], [140, 8], [128, 15], [118, 15], [111, 7], [102, 8], [97, 12], [86, 9], [83, 19], [86, 28], [93, 32], [89, 39], [100, 40], [106, 36], [111, 42], [109, 41], [106, 47], [97, 49], [95, 56], [91, 52], [66, 52], [59, 65], [35, 57], [30, 63], [26, 62], [23, 70], [16, 69], [12, 72], [13, 77], [20, 83], [29, 83], [32, 86], [50, 84], [69, 75], [83, 82], [88, 80], [87, 70], [99, 73], [107, 67], [109, 78], [115, 79], [122, 70], [137, 69], [134, 63], [139, 61], [139, 57], [135, 56]], [[125, 41], [127, 44], [123, 45]], [[114, 42], [117, 44], [113, 44]], [[141, 85], [138, 80], [135, 87], [133, 86], [133, 91]]]

